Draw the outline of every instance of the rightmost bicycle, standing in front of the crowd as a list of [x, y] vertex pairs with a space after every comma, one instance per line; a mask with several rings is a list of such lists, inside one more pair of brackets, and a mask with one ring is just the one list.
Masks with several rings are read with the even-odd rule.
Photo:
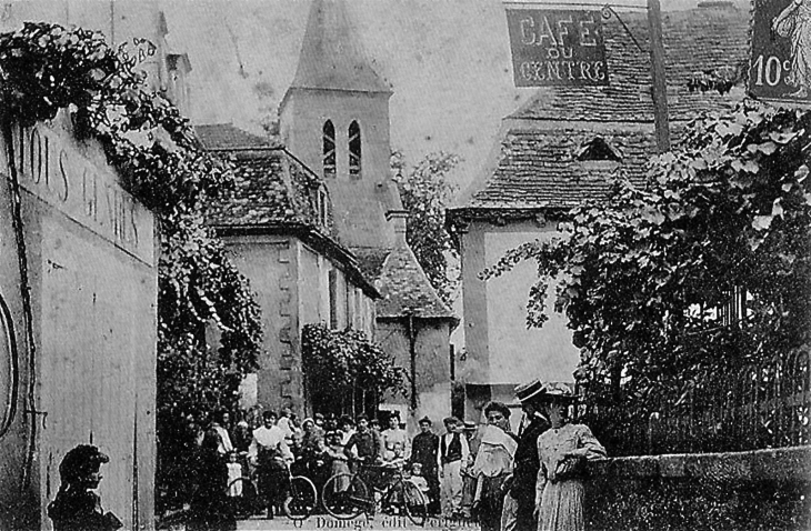
[[[394, 478], [382, 488], [367, 485], [367, 481], [374, 482], [374, 475], [386, 478], [392, 473]], [[366, 475], [367, 481], [361, 475]], [[388, 514], [403, 514], [415, 525], [424, 525], [428, 519], [425, 497], [409, 481], [402, 465], [361, 464], [358, 473], [334, 474], [324, 483], [321, 502], [324, 510], [339, 520], [350, 520], [361, 513], [373, 515], [378, 507]]]

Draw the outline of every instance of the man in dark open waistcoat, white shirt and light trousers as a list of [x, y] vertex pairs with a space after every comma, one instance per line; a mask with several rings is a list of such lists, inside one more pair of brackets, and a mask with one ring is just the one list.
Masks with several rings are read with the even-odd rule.
[[461, 433], [455, 417], [444, 419], [445, 434], [439, 440], [437, 465], [442, 481], [442, 515], [458, 518], [462, 514], [462, 467], [467, 465], [470, 448]]

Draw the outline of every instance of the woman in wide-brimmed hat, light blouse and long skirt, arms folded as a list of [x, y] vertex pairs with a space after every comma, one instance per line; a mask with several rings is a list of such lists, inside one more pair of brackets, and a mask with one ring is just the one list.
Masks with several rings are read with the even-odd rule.
[[543, 412], [551, 428], [538, 438], [538, 531], [583, 531], [583, 463], [604, 458], [605, 449], [587, 425], [567, 421], [571, 389], [563, 383], [545, 388]]

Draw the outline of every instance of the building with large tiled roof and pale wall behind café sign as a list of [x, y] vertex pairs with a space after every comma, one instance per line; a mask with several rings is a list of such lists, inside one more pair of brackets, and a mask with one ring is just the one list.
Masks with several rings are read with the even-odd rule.
[[[643, 13], [621, 13], [642, 49], [649, 49]], [[709, 110], [731, 108], [742, 97], [698, 92], [690, 79], [739, 67], [747, 58], [749, 13], [731, 2], [704, 2], [662, 13], [671, 137]], [[505, 251], [559, 234], [572, 207], [608, 192], [622, 172], [638, 184], [655, 153], [650, 57], [615, 18], [603, 23], [609, 87], [538, 89], [504, 118], [488, 162], [449, 209], [460, 229], [467, 360], [460, 367], [467, 411], [478, 419], [490, 399], [512, 401], [512, 387], [532, 377], [573, 381], [579, 350], [560, 313], [527, 329], [527, 300], [534, 263], [487, 282], [479, 273]], [[553, 308], [550, 289], [547, 308]]]

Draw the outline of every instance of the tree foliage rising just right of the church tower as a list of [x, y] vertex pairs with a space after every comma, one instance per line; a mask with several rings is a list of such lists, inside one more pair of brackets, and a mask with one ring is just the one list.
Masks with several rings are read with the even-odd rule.
[[406, 239], [431, 285], [447, 304], [452, 302], [460, 275], [458, 267], [453, 266], [459, 263], [459, 256], [444, 224], [445, 208], [457, 191], [448, 182], [448, 173], [459, 161], [458, 156], [440, 151], [425, 156], [407, 170], [402, 152], [396, 151], [391, 156], [394, 180], [403, 207], [409, 211]]

